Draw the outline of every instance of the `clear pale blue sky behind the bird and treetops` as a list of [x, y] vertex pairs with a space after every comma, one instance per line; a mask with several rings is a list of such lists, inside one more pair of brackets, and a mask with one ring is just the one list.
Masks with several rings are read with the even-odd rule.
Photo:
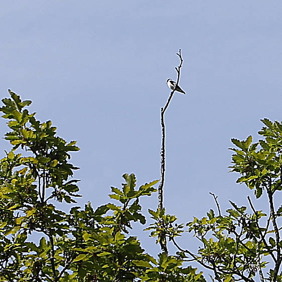
[[[165, 116], [164, 205], [181, 222], [216, 210], [210, 191], [222, 210], [246, 205], [252, 193], [228, 174], [228, 148], [231, 137], [257, 139], [260, 118], [281, 120], [281, 14], [280, 0], [3, 2], [1, 96], [11, 88], [31, 99], [40, 120], [77, 140], [79, 204], [96, 207], [124, 173], [138, 185], [160, 178], [160, 108], [181, 48], [187, 95], [176, 93]], [[2, 139], [3, 156], [7, 148]], [[156, 209], [157, 194], [142, 204]], [[133, 232], [159, 251], [148, 232]]]

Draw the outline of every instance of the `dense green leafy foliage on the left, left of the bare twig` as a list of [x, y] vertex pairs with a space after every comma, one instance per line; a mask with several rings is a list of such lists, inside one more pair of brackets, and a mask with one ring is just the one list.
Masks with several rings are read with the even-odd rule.
[[129, 234], [132, 222], [146, 223], [139, 198], [158, 181], [136, 188], [135, 176], [124, 174], [122, 187], [111, 188], [114, 203], [74, 206], [78, 168], [69, 159], [78, 147], [58, 137], [51, 121], [37, 120], [26, 108], [31, 101], [9, 92], [0, 109], [12, 145], [0, 162], [0, 281], [205, 281], [179, 255], [155, 259]]

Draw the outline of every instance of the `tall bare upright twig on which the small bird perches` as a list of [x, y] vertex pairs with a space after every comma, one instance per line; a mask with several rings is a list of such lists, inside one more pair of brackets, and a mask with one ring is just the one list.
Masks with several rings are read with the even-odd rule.
[[[181, 49], [179, 49], [179, 53], [176, 53], [177, 56], [180, 59], [180, 64], [178, 67], [176, 67], [176, 72], [177, 72], [177, 82], [176, 82], [176, 86], [174, 88], [174, 90], [171, 92], [169, 99], [166, 103], [166, 105], [164, 107], [161, 108], [161, 126], [162, 126], [162, 149], [161, 149], [161, 181], [160, 181], [160, 185], [158, 188], [158, 200], [159, 200], [159, 204], [158, 204], [158, 209], [161, 211], [164, 208], [164, 183], [165, 183], [165, 170], [166, 170], [166, 149], [165, 149], [165, 141], [166, 141], [166, 127], [165, 127], [165, 112], [166, 109], [168, 108], [170, 101], [172, 99], [172, 96], [174, 94], [174, 92], [176, 91], [176, 88], [178, 86], [179, 80], [180, 80], [180, 69], [182, 67], [183, 64], [183, 59], [181, 56]], [[162, 221], [160, 222], [161, 225]], [[168, 253], [168, 249], [167, 249], [167, 241], [166, 241], [166, 236], [161, 235], [160, 236], [160, 245], [161, 248], [164, 252]]]

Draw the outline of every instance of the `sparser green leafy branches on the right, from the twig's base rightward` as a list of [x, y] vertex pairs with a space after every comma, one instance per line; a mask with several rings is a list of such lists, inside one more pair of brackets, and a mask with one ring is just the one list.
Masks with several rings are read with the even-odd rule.
[[274, 199], [282, 190], [282, 123], [266, 118], [261, 121], [265, 126], [258, 133], [263, 139], [257, 143], [252, 143], [251, 136], [242, 141], [231, 139], [237, 149], [231, 149], [235, 154], [230, 168], [240, 174], [237, 183], [246, 184], [256, 198], [265, 196], [269, 212], [256, 210], [248, 197], [250, 212], [247, 207], [230, 201], [232, 208], [221, 215], [215, 197], [219, 215], [210, 210], [206, 217], [195, 217], [187, 223], [187, 231], [193, 232], [202, 244], [197, 254], [176, 242], [176, 237], [184, 230], [183, 225], [175, 223], [174, 216], [166, 215], [164, 210], [151, 212], [155, 219], [150, 227], [153, 229], [151, 235], [166, 234], [178, 248], [180, 257], [194, 259], [212, 270], [213, 281], [282, 280], [282, 226], [279, 220], [282, 206], [274, 208]]

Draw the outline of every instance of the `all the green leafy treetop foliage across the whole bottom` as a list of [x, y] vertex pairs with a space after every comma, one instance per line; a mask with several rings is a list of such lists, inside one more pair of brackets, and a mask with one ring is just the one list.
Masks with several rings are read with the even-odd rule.
[[[139, 199], [157, 190], [157, 181], [136, 187], [133, 174], [124, 174], [121, 188], [111, 187], [113, 203], [93, 208], [74, 206], [80, 197], [78, 180], [70, 153], [78, 151], [75, 142], [56, 135], [51, 121], [40, 122], [9, 90], [0, 109], [11, 131], [5, 138], [12, 145], [0, 162], [0, 281], [206, 281], [202, 272], [187, 266], [191, 260], [213, 271], [213, 281], [281, 281], [282, 206], [275, 199], [282, 190], [282, 124], [263, 119], [263, 137], [252, 143], [232, 139], [231, 171], [263, 198], [269, 211], [230, 202], [231, 208], [218, 215], [213, 210], [203, 218], [178, 224], [164, 208], [149, 210], [151, 231], [161, 245], [166, 238], [177, 248], [175, 254], [162, 251], [157, 258], [130, 235], [132, 223], [145, 224]], [[65, 212], [57, 202], [70, 205]], [[183, 232], [200, 240], [198, 252], [177, 243]], [[34, 242], [33, 234], [40, 240]], [[163, 242], [164, 243], [164, 242]]]

